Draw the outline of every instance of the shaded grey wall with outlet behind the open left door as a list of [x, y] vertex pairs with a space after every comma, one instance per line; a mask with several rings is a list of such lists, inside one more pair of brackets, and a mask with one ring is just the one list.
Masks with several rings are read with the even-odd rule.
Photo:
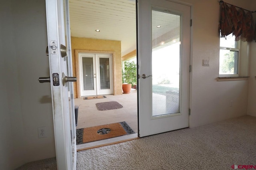
[[[56, 156], [44, 0], [0, 4], [0, 169]], [[47, 137], [38, 138], [38, 127]]]

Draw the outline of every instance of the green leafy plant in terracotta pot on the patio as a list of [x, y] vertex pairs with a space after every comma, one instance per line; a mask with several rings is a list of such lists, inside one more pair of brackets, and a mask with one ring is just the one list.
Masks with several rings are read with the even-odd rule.
[[137, 82], [137, 66], [134, 61], [123, 61], [122, 69], [122, 89], [124, 94], [128, 94], [131, 91], [131, 88]]

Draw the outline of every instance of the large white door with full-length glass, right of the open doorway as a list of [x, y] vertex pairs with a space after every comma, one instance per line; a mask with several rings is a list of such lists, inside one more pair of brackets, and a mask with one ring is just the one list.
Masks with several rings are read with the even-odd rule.
[[188, 127], [190, 6], [138, 1], [139, 135]]

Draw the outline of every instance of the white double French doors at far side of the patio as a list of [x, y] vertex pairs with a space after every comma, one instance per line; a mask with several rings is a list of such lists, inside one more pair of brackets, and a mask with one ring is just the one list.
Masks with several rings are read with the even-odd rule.
[[113, 94], [112, 55], [78, 53], [81, 96]]

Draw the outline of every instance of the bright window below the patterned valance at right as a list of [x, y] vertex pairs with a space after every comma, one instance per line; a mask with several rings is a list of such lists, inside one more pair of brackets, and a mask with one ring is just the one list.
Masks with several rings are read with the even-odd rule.
[[235, 41], [235, 36], [229, 34], [220, 38], [220, 76], [238, 76], [239, 73], [240, 41]]

